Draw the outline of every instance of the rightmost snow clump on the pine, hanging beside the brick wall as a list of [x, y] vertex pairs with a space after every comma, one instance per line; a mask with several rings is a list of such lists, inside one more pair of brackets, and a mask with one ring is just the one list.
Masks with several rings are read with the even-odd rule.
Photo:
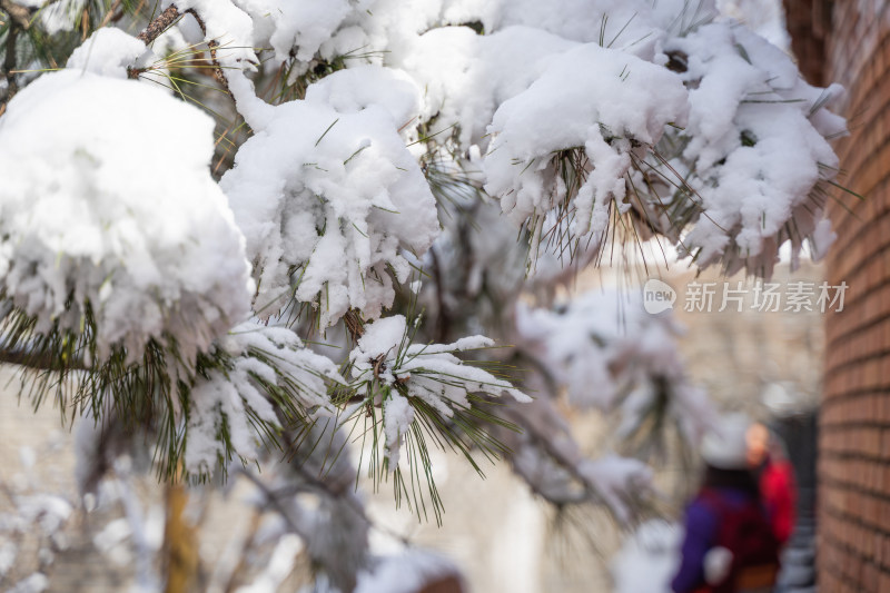
[[818, 185], [838, 171], [827, 137], [846, 129], [823, 107], [841, 89], [810, 87], [791, 58], [738, 26], [702, 27], [669, 49], [689, 57], [690, 125], [674, 165], [701, 211], [682, 250], [700, 267], [770, 276], [781, 244], [797, 257], [823, 220]]

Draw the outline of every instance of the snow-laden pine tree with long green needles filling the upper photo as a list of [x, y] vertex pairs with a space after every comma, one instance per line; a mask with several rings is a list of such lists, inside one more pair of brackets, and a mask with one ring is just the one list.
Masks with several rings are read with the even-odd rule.
[[[711, 2], [0, 0], [0, 359], [93, 425], [85, 492], [145, 443], [168, 483], [243, 476], [318, 590], [384, 565], [357, 472], [442, 521], [431, 447], [506, 459], [566, 513], [653, 512], [657, 439], [711, 413], [675, 327], [556, 289], [650, 240], [769, 277], [833, 237], [841, 89]], [[587, 458], [563, 394], [616, 413], [629, 456]]]

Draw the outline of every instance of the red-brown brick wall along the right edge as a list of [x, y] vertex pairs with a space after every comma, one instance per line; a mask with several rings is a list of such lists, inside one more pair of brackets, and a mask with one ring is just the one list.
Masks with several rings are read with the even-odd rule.
[[[890, 0], [785, 3], [795, 49], [821, 51], [821, 80], [848, 89], [835, 106], [851, 129], [837, 145], [841, 182], [867, 198], [829, 207], [838, 241], [827, 279], [849, 289], [844, 310], [825, 315], [818, 583], [890, 592]], [[801, 66], [820, 80], [812, 53]]]

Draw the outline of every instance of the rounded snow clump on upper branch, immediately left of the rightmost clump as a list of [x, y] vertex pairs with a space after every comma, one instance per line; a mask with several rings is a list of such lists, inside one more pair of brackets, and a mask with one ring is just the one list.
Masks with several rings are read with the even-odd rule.
[[[573, 237], [597, 245], [612, 204], [630, 208], [625, 175], [634, 155], [642, 157], [669, 123], [685, 125], [686, 101], [681, 80], [661, 66], [596, 43], [567, 51], [495, 112], [485, 190], [533, 230], [533, 246], [557, 209], [572, 213]], [[560, 151], [572, 149], [585, 157], [577, 174], [560, 162]], [[570, 175], [583, 176], [576, 187], [566, 185]]]

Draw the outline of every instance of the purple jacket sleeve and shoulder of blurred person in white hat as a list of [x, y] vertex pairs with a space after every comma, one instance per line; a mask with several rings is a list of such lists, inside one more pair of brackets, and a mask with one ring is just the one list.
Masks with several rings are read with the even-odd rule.
[[[714, 488], [730, 507], [742, 507], [749, 495], [732, 488]], [[675, 593], [690, 593], [705, 585], [704, 556], [716, 545], [720, 530], [719, 517], [712, 506], [696, 496], [686, 507], [685, 537], [681, 548], [683, 557], [680, 571], [671, 583]]]

